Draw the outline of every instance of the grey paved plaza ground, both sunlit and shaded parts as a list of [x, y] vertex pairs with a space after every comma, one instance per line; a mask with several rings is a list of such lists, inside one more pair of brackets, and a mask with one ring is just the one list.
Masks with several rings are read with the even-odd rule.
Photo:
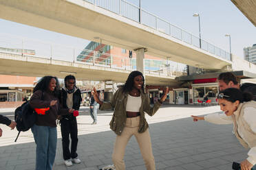
[[[1, 109], [0, 114], [13, 119], [14, 109]], [[112, 164], [111, 153], [115, 134], [109, 129], [113, 112], [98, 114], [98, 124], [91, 125], [89, 108], [81, 108], [78, 116], [78, 156], [81, 164], [65, 167], [62, 158], [61, 132], [58, 126], [58, 144], [54, 170], [97, 170]], [[232, 125], [214, 125], [205, 121], [193, 122], [191, 114], [202, 115], [220, 112], [220, 106], [162, 106], [153, 116], [147, 117], [156, 160], [156, 169], [168, 170], [229, 170], [233, 161], [247, 158], [244, 149], [232, 134]], [[35, 148], [32, 132], [21, 132], [17, 143], [17, 130], [0, 125], [0, 169], [32, 170], [35, 165]], [[127, 170], [145, 169], [138, 143], [134, 137], [125, 153]]]

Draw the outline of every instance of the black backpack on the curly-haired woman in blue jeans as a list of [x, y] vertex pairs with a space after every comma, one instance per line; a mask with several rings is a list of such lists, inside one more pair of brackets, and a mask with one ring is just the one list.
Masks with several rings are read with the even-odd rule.
[[[43, 93], [41, 99], [43, 100]], [[30, 128], [36, 123], [36, 112], [31, 108], [29, 101], [25, 101], [21, 106], [19, 106], [14, 112], [14, 119], [17, 123], [16, 128], [19, 131], [17, 138], [14, 142], [17, 141], [19, 134], [25, 131], [30, 130]]]

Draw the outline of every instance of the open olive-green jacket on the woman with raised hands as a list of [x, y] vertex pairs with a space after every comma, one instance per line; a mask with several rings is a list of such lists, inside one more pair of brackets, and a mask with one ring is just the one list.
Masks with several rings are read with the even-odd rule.
[[[138, 132], [142, 133], [147, 130], [149, 124], [145, 119], [145, 112], [149, 114], [149, 116], [153, 116], [153, 114], [158, 111], [161, 104], [160, 102], [156, 102], [153, 108], [150, 106], [149, 96], [140, 90], [140, 95], [142, 99], [142, 104], [140, 106], [140, 125]], [[122, 87], [119, 88], [114, 96], [112, 97], [110, 102], [103, 102], [103, 105], [100, 106], [100, 110], [109, 110], [114, 109], [113, 117], [109, 123], [110, 129], [113, 130], [116, 134], [122, 134], [122, 130], [125, 127], [126, 122], [126, 104], [127, 104], [127, 96], [128, 93], [124, 93], [122, 91]]]

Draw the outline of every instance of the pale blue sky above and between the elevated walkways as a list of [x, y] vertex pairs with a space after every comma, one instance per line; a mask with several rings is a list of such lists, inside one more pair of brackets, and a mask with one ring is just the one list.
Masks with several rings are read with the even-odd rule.
[[[127, 0], [138, 5], [139, 0]], [[231, 50], [235, 56], [244, 57], [244, 47], [251, 47], [256, 44], [256, 27], [240, 12], [237, 7], [229, 0], [141, 0], [141, 8], [156, 14], [162, 19], [169, 21], [186, 32], [199, 36], [198, 17], [193, 14], [200, 14], [201, 37], [211, 44], [229, 51], [229, 39], [225, 34], [231, 35]], [[0, 19], [0, 46], [10, 45], [11, 39], [7, 35], [16, 35], [14, 37], [26, 37], [30, 44], [40, 46], [49, 42], [56, 48], [65, 48], [66, 53], [79, 53], [88, 43], [88, 40], [75, 38], [56, 32], [50, 32], [44, 29], [22, 25]], [[5, 37], [5, 38], [1, 38]], [[10, 36], [12, 37], [12, 36]], [[16, 38], [17, 47], [25, 42], [21, 38]], [[50, 49], [49, 45], [47, 46]], [[64, 48], [60, 48], [64, 49]], [[50, 55], [45, 52], [45, 56]]]

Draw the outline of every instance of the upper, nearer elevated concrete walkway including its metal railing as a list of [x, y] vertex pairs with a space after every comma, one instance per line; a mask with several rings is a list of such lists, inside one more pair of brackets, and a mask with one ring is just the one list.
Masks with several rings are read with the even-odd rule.
[[[202, 69], [226, 69], [229, 53], [127, 1], [0, 0], [0, 18], [136, 50]], [[98, 2], [93, 4], [94, 2]], [[127, 11], [126, 11], [127, 10]], [[129, 15], [131, 14], [131, 15]], [[97, 39], [96, 39], [97, 38]]]

